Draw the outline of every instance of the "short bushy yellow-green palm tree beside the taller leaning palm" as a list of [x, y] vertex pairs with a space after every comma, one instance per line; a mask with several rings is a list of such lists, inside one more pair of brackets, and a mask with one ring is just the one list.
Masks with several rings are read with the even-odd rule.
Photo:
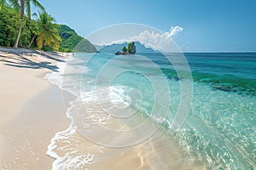
[[39, 14], [39, 17], [37, 14], [35, 14], [35, 16], [38, 17], [38, 48], [41, 49], [44, 46], [48, 46], [54, 50], [58, 50], [60, 48], [61, 42], [61, 37], [58, 31], [60, 26], [54, 24], [54, 18], [47, 14], [45, 11]]

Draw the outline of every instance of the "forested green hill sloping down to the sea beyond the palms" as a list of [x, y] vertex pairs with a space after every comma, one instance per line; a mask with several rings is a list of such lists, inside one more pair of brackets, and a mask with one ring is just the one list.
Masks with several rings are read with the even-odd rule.
[[96, 48], [84, 37], [80, 37], [76, 31], [66, 25], [59, 29], [61, 35], [61, 52], [87, 52], [95, 53]]

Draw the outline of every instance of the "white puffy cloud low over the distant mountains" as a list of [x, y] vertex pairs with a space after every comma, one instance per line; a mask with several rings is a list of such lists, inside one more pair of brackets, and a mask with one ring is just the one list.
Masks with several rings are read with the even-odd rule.
[[120, 44], [124, 42], [141, 42], [145, 47], [153, 48], [154, 50], [159, 50], [160, 52], [177, 52], [178, 49], [176, 44], [172, 41], [172, 37], [181, 31], [183, 31], [183, 28], [180, 26], [172, 26], [170, 31], [164, 33], [146, 30], [136, 36], [109, 43], [102, 42], [102, 44], [111, 45], [113, 43]]

